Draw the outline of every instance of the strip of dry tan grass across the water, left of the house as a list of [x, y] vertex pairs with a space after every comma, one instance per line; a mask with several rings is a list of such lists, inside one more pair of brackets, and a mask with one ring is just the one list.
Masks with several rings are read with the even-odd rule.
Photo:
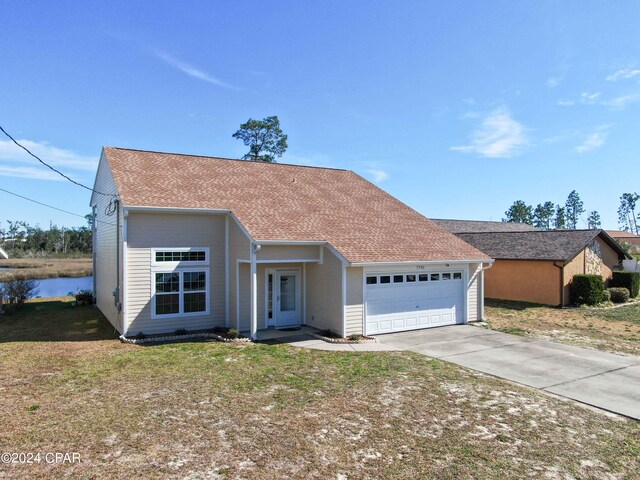
[[0, 260], [0, 282], [12, 278], [44, 279], [93, 275], [91, 258], [16, 258]]

